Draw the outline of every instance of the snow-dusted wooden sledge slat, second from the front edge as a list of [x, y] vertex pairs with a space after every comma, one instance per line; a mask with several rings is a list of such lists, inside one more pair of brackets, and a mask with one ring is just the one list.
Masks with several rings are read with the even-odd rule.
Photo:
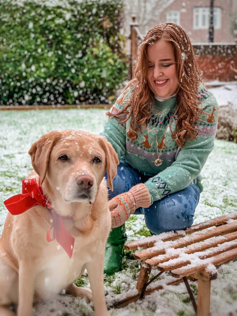
[[167, 262], [163, 262], [157, 266], [157, 269], [162, 272], [178, 269], [187, 264], [191, 264], [192, 261], [197, 258], [204, 260], [206, 258], [214, 257], [222, 252], [226, 252], [234, 248], [237, 248], [237, 240], [230, 241], [229, 243], [225, 243], [225, 244], [220, 245], [215, 248], [211, 248], [208, 252], [196, 252], [194, 255], [193, 254], [187, 255], [187, 256], [190, 256], [190, 259], [189, 258], [175, 258]]

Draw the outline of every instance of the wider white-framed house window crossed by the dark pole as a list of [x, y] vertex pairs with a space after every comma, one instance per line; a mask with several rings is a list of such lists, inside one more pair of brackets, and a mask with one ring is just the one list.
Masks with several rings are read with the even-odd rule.
[[[209, 28], [210, 7], [193, 8], [193, 29], [202, 30]], [[214, 29], [221, 29], [222, 26], [222, 9], [213, 8], [213, 24]]]

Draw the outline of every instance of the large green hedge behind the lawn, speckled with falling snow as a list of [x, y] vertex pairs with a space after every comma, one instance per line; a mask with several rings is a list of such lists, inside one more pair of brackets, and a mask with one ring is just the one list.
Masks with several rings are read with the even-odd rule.
[[120, 0], [0, 0], [0, 104], [112, 100], [127, 75], [121, 10]]

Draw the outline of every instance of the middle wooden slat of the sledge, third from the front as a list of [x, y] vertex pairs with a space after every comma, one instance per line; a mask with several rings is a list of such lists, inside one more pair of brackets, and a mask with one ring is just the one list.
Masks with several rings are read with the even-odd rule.
[[194, 253], [194, 252], [204, 251], [208, 248], [216, 247], [216, 246], [218, 246], [218, 244], [223, 244], [225, 242], [232, 241], [235, 239], [237, 239], [237, 232], [226, 234], [224, 236], [217, 236], [216, 238], [213, 238], [211, 240], [208, 239], [208, 240], [201, 241], [201, 242], [193, 244], [193, 245], [189, 245], [185, 248], [180, 248], [179, 252], [174, 251], [174, 252], [169, 252], [169, 253], [164, 254], [164, 255], [158, 255], [156, 257], [147, 259], [145, 262], [147, 264], [149, 264], [151, 267], [155, 267], [155, 266], [159, 265], [160, 263], [166, 262], [166, 261], [171, 260], [171, 259], [178, 258], [180, 252], [190, 254], [190, 253]]

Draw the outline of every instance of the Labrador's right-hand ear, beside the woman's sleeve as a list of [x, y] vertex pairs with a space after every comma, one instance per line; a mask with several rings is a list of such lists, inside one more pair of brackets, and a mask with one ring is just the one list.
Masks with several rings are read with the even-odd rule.
[[111, 143], [109, 143], [104, 136], [100, 137], [100, 146], [104, 149], [106, 154], [106, 168], [108, 174], [108, 186], [113, 191], [113, 179], [117, 174], [117, 165], [119, 159], [116, 151], [113, 149]]

